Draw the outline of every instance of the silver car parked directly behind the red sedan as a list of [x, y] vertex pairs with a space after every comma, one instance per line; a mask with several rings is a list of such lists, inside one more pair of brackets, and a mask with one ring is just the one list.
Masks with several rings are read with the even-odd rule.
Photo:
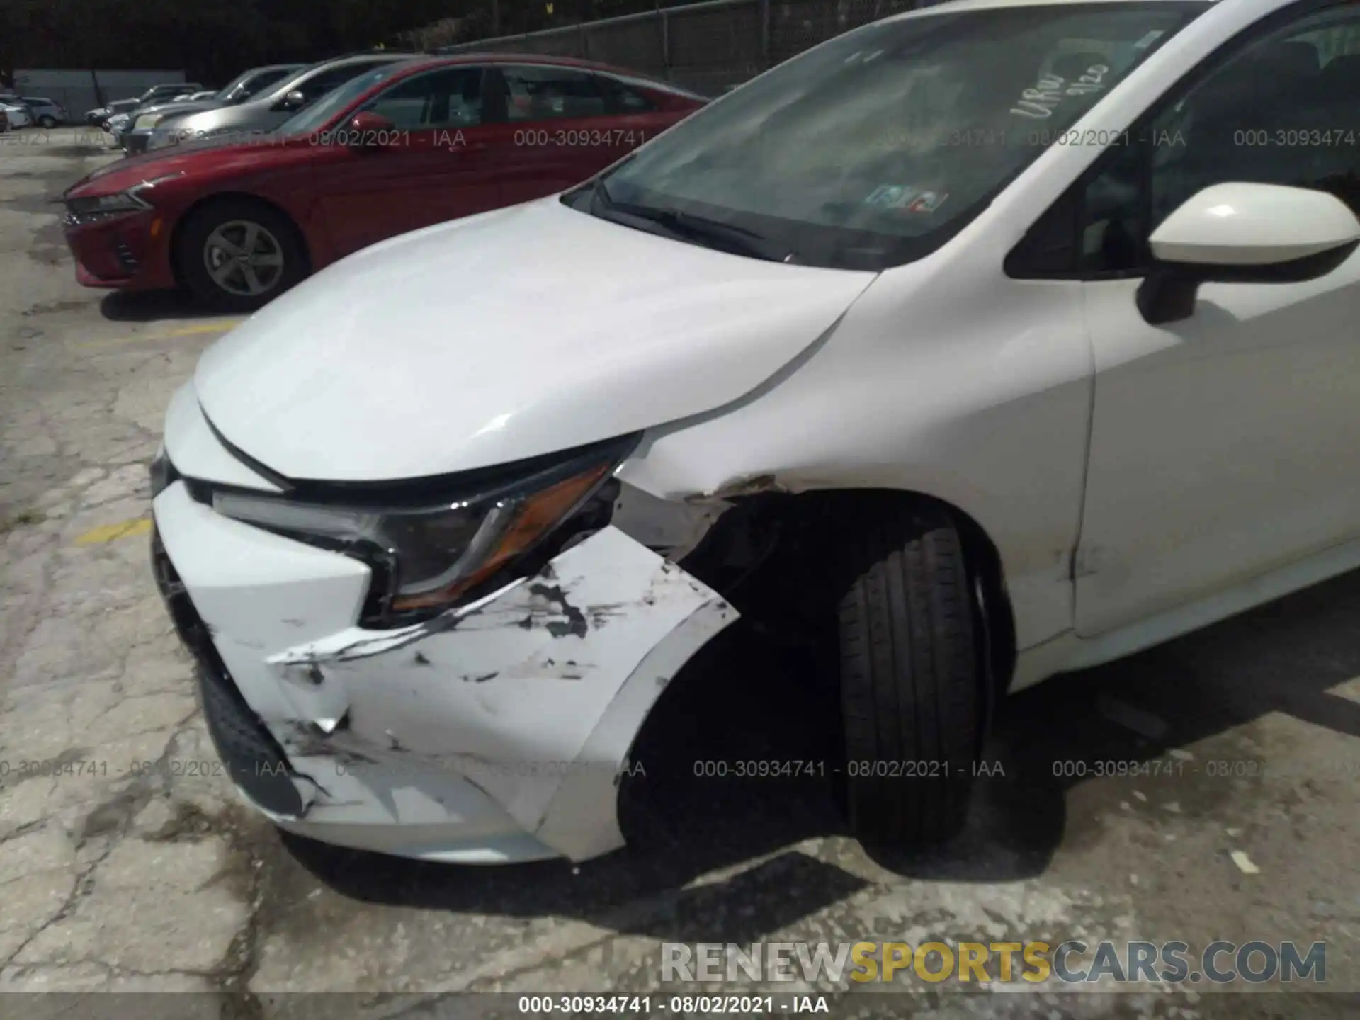
[[156, 150], [181, 141], [209, 139], [243, 141], [250, 136], [265, 135], [351, 78], [416, 56], [419, 54], [360, 53], [313, 64], [237, 106], [166, 117], [152, 128], [147, 148]]

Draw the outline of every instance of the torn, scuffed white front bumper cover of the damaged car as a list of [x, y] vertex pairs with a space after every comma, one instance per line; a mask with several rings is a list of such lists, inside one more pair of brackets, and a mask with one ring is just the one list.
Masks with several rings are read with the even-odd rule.
[[358, 560], [216, 514], [181, 481], [154, 511], [158, 582], [237, 786], [344, 846], [458, 862], [622, 846], [643, 719], [737, 617], [609, 526], [476, 602], [363, 630]]

